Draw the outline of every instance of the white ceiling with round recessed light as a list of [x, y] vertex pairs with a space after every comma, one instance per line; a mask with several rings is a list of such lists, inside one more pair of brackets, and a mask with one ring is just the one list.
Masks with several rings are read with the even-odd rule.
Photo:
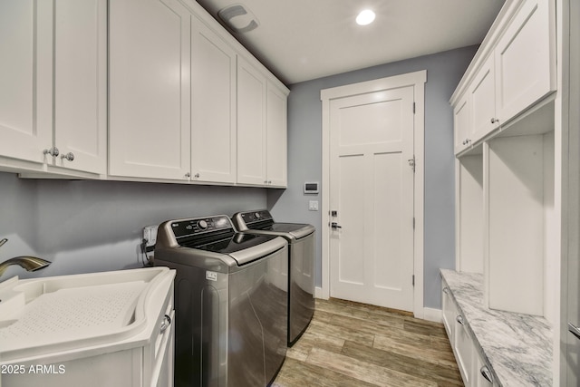
[[[258, 27], [232, 34], [286, 84], [480, 44], [503, 0], [197, 0], [242, 4]], [[363, 9], [374, 23], [354, 22]]]

